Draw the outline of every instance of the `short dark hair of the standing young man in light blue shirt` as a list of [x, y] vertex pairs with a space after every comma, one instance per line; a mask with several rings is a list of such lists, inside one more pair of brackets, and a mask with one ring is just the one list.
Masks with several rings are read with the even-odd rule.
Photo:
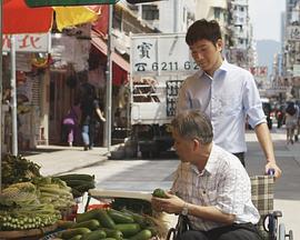
[[207, 21], [206, 19], [200, 19], [189, 27], [186, 36], [188, 46], [203, 39], [211, 41], [214, 46], [219, 39], [222, 39], [220, 26], [216, 20]]

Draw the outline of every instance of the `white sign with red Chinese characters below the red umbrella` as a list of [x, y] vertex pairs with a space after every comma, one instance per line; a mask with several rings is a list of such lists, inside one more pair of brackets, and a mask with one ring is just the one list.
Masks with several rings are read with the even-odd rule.
[[[11, 47], [10, 36], [2, 36], [2, 51], [9, 52]], [[17, 52], [49, 52], [51, 34], [16, 34]]]

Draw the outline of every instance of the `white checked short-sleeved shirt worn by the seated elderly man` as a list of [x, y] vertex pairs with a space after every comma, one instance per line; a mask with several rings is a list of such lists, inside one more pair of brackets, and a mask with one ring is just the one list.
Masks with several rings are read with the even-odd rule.
[[[247, 171], [237, 157], [216, 144], [202, 172], [190, 163], [179, 164], [171, 190], [189, 203], [213, 206], [224, 213], [236, 214], [237, 223], [259, 221]], [[193, 216], [189, 219], [194, 230], [208, 231], [223, 226]]]

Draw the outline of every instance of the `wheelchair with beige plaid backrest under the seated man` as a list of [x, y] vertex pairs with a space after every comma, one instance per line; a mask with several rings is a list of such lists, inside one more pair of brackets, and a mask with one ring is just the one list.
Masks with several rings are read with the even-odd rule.
[[[282, 212], [273, 210], [274, 180], [272, 174], [250, 177], [251, 199], [260, 213], [258, 230], [263, 240], [293, 240], [292, 230], [287, 232], [284, 223], [279, 223]], [[188, 219], [179, 214], [176, 228], [169, 229], [167, 240], [174, 240], [189, 229]]]

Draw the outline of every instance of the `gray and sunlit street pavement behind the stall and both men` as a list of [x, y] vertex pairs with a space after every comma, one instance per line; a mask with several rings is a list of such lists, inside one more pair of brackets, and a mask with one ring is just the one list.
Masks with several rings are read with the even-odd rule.
[[[276, 182], [274, 209], [282, 211], [280, 222], [293, 231], [293, 239], [300, 239], [300, 143], [286, 144], [286, 129], [271, 131], [277, 162], [282, 177]], [[264, 157], [253, 131], [246, 134], [248, 153], [247, 170], [250, 176], [263, 174]], [[112, 150], [117, 146], [112, 147]], [[83, 151], [82, 148], [38, 147], [23, 153], [29, 160], [41, 166], [41, 174], [90, 173], [96, 176], [98, 189], [137, 190], [151, 192], [154, 188], [168, 189], [172, 172], [179, 160], [169, 154], [161, 159], [108, 159], [107, 148]]]

